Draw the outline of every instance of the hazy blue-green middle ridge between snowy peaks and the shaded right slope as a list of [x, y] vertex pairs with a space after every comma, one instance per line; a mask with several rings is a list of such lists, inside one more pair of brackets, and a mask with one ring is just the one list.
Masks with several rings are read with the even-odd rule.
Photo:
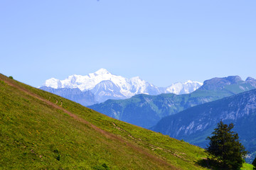
[[105, 103], [89, 106], [89, 108], [127, 123], [151, 128], [167, 115], [255, 89], [255, 82], [255, 79], [242, 81], [238, 76], [213, 78], [206, 80], [203, 86], [191, 94], [161, 94], [158, 96], [140, 94], [122, 101], [105, 101]]

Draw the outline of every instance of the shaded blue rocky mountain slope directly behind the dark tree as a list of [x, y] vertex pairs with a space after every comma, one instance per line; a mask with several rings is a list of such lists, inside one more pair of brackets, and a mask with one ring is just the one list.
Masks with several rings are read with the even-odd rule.
[[167, 116], [152, 130], [205, 147], [220, 120], [234, 123], [242, 144], [256, 153], [256, 89]]

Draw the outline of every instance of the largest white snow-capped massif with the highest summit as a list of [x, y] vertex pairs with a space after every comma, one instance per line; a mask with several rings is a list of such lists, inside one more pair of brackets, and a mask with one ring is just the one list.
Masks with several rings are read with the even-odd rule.
[[[99, 86], [97, 86], [97, 84], [99, 84]], [[86, 76], [74, 74], [64, 80], [58, 80], [54, 78], [48, 79], [46, 80], [46, 83], [43, 84], [43, 86], [52, 87], [53, 89], [78, 88], [81, 91], [94, 89], [93, 91], [97, 92], [99, 92], [100, 89], [102, 89], [102, 91], [110, 90], [120, 93], [117, 94], [117, 98], [120, 98], [121, 96], [128, 98], [136, 94], [160, 94], [160, 91], [156, 86], [149, 84], [139, 77], [126, 79], [124, 77], [111, 74], [107, 71], [107, 69], [99, 69], [97, 72], [90, 73]]]

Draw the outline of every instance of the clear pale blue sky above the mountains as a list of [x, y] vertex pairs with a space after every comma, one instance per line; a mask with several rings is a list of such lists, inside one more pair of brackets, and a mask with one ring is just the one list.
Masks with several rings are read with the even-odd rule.
[[255, 0], [1, 0], [0, 72], [32, 86], [100, 68], [156, 86], [256, 78], [255, 9]]

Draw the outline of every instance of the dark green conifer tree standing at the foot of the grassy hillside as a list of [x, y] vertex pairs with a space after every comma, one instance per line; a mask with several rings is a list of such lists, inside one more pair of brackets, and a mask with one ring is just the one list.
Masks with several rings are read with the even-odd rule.
[[210, 140], [206, 147], [208, 158], [215, 160], [222, 169], [240, 169], [245, 162], [247, 151], [238, 140], [238, 133], [231, 131], [233, 128], [233, 123], [225, 125], [220, 121], [212, 136], [206, 138]]

